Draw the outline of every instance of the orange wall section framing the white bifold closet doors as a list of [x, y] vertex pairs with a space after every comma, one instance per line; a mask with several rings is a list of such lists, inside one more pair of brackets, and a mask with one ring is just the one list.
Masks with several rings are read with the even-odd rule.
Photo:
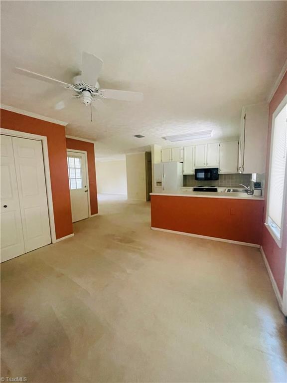
[[72, 234], [65, 127], [1, 109], [1, 128], [47, 137], [56, 238]]

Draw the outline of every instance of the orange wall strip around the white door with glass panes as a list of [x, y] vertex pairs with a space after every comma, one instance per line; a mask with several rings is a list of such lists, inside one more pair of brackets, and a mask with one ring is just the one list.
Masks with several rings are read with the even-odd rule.
[[94, 144], [91, 142], [75, 140], [72, 138], [66, 138], [66, 143], [67, 149], [83, 150], [87, 152], [91, 214], [97, 214], [98, 197]]

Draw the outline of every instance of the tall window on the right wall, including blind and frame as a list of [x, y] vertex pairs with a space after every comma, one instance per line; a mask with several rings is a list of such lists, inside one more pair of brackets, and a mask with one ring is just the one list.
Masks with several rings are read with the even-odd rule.
[[266, 225], [281, 247], [286, 198], [287, 96], [274, 112]]

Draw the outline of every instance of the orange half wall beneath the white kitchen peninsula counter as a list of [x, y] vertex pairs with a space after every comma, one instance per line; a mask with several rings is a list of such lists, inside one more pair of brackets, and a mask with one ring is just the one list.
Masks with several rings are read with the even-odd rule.
[[151, 195], [151, 227], [261, 244], [263, 200]]

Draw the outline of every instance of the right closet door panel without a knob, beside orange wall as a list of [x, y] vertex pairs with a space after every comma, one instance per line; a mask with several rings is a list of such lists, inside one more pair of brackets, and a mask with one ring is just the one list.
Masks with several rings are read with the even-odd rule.
[[51, 243], [42, 143], [12, 137], [25, 252]]

